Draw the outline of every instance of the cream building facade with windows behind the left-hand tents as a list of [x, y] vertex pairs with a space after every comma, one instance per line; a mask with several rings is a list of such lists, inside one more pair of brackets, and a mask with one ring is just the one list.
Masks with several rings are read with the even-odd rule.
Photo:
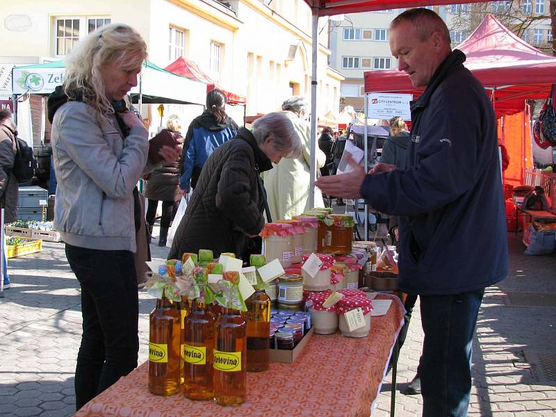
[[[311, 10], [303, 0], [2, 3], [0, 65], [4, 67], [63, 59], [90, 31], [123, 22], [145, 38], [149, 60], [155, 65], [165, 67], [183, 56], [223, 88], [245, 96], [245, 109], [229, 108], [238, 123], [244, 110], [247, 115], [268, 113], [279, 109], [292, 94], [308, 99], [311, 95]], [[326, 25], [327, 18], [321, 18], [319, 30]], [[338, 112], [343, 76], [327, 65], [327, 31], [321, 32], [319, 40], [318, 114]], [[154, 105], [146, 107], [149, 117], [156, 120]], [[165, 117], [181, 113], [190, 119], [202, 111], [199, 106], [190, 106], [193, 110], [188, 111], [183, 107], [187, 106], [168, 105]]]

